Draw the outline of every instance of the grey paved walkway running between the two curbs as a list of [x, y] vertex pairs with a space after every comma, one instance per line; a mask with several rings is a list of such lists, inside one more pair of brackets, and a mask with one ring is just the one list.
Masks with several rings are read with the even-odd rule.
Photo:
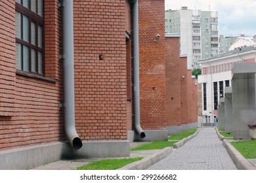
[[217, 137], [215, 128], [205, 127], [184, 146], [148, 169], [234, 170], [236, 166]]

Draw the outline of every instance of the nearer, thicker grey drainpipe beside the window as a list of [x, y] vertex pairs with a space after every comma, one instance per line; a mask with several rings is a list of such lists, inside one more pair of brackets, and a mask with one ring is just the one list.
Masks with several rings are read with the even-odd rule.
[[83, 146], [75, 130], [75, 86], [74, 86], [74, 12], [73, 1], [63, 0], [63, 93], [64, 131], [68, 142], [78, 150]]

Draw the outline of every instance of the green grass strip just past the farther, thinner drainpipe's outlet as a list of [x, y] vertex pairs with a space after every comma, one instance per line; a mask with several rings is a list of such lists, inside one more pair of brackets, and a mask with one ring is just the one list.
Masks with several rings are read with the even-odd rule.
[[156, 149], [163, 149], [165, 147], [173, 146], [174, 143], [178, 141], [154, 141], [150, 144], [144, 144], [142, 146], [138, 146], [136, 148], [132, 148], [131, 150], [156, 150]]

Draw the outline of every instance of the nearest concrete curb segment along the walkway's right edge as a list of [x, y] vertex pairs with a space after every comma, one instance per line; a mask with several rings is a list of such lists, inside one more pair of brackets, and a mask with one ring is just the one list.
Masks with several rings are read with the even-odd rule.
[[232, 146], [226, 139], [223, 140], [223, 146], [228, 151], [228, 154], [230, 155], [230, 158], [236, 165], [237, 169], [256, 170], [256, 167], [253, 166], [247, 159], [245, 159], [244, 156], [242, 156], [242, 154], [240, 154], [240, 152], [238, 152], [238, 150], [236, 150], [236, 148], [234, 148], [234, 146]]

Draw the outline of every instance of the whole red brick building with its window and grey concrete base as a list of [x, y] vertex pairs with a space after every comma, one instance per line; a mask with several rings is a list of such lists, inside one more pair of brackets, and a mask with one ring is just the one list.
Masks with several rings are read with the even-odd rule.
[[[182, 95], [168, 89], [167, 78], [174, 76], [167, 71], [171, 63], [165, 66], [165, 45], [172, 41], [165, 42], [164, 1], [70, 2], [0, 2], [0, 169], [28, 169], [66, 156], [129, 156], [129, 141], [165, 141], [168, 126], [191, 123], [179, 107]], [[144, 138], [135, 124], [135, 5]], [[173, 49], [179, 59], [179, 46]], [[179, 82], [174, 85], [180, 90]], [[168, 96], [181, 108], [177, 122]]]

